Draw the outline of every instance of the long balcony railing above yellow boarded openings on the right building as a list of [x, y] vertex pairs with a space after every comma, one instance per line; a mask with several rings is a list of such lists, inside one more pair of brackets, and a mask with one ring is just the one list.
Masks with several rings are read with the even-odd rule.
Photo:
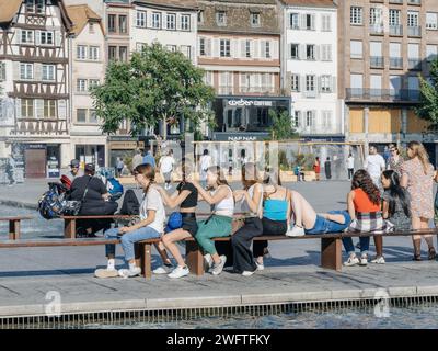
[[379, 102], [417, 102], [419, 90], [412, 89], [346, 89], [348, 101], [379, 101]]

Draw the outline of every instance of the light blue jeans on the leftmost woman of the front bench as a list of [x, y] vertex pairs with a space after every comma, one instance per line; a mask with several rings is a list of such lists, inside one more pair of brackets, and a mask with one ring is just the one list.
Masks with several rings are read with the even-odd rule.
[[[125, 252], [125, 261], [127, 262], [136, 258], [134, 244], [141, 240], [159, 238], [161, 234], [151, 227], [141, 227], [137, 230], [129, 231], [124, 235], [120, 235], [118, 233], [118, 228], [112, 228], [105, 231], [106, 239], [120, 238], [122, 247]], [[116, 246], [114, 244], [107, 244], [105, 245], [105, 251], [106, 251], [106, 257], [108, 257], [110, 254], [115, 256]]]

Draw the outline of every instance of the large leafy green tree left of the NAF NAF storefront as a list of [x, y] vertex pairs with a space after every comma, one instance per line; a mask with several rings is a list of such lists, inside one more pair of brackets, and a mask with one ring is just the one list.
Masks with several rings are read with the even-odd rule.
[[211, 125], [215, 92], [203, 77], [183, 54], [160, 44], [146, 45], [128, 63], [111, 63], [105, 83], [91, 90], [102, 131], [115, 133], [124, 121], [130, 122], [132, 136], [159, 121], [165, 126], [182, 120], [194, 131], [203, 122]]

